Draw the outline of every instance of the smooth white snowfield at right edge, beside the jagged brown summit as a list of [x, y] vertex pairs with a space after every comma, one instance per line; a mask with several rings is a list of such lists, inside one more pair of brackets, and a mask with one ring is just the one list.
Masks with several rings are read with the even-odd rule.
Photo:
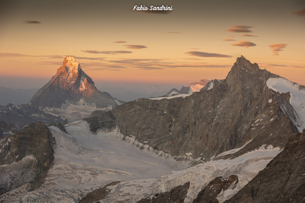
[[[292, 121], [299, 132], [302, 132], [305, 128], [305, 87], [282, 77], [268, 79], [267, 87], [280, 93], [290, 92], [290, 104], [295, 110], [296, 116], [296, 119]], [[285, 109], [283, 111], [285, 112]]]

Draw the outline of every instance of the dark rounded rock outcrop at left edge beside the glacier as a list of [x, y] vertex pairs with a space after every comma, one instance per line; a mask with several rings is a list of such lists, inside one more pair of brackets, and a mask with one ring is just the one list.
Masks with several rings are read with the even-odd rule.
[[33, 123], [0, 140], [0, 194], [41, 185], [53, 162], [55, 139], [43, 123]]

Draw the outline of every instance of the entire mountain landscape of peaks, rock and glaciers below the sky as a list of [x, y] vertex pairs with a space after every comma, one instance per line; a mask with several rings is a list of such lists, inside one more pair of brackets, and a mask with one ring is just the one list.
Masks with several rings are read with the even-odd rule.
[[73, 57], [0, 106], [1, 202], [305, 202], [305, 86], [238, 57], [224, 80], [123, 102]]

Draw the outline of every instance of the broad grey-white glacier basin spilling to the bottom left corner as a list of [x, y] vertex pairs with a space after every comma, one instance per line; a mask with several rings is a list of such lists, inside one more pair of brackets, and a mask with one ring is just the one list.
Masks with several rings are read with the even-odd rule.
[[[161, 152], [156, 154], [148, 145], [139, 148], [133, 138], [123, 141], [117, 131], [92, 134], [85, 121], [69, 123], [65, 128], [68, 134], [49, 127], [57, 146], [44, 184], [32, 192], [17, 188], [3, 198], [8, 202], [78, 202], [84, 194], [109, 182], [156, 178], [191, 165]], [[20, 194], [15, 196], [16, 192]]]

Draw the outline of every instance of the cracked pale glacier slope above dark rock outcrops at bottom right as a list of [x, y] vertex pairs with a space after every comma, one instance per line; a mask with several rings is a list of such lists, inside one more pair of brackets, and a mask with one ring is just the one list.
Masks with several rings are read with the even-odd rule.
[[189, 181], [190, 187], [184, 199], [184, 202], [188, 203], [215, 177], [222, 176], [225, 179], [235, 174], [239, 179], [236, 187], [222, 191], [217, 196], [218, 201], [223, 202], [253, 179], [280, 151], [272, 146], [262, 146], [234, 159], [206, 162], [182, 171], [167, 173], [159, 178], [121, 182], [113, 188], [113, 193], [101, 202], [137, 202], [142, 198], [152, 198], [155, 194], [170, 191]]

